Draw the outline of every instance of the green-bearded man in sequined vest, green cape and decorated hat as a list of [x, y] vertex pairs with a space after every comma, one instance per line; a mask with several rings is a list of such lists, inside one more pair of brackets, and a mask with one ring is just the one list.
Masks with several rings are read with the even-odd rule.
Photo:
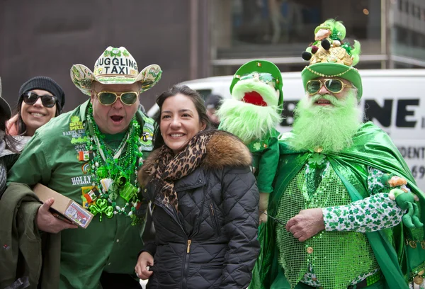
[[[409, 288], [407, 280], [419, 288], [425, 216], [404, 197], [415, 193], [424, 208], [425, 195], [390, 137], [362, 123], [361, 76], [353, 67], [360, 45], [342, 43], [341, 22], [327, 26], [341, 45], [312, 50], [302, 70], [306, 96], [293, 130], [279, 138], [273, 222], [261, 228], [250, 288], [399, 289]], [[404, 215], [404, 205], [412, 212]]]

